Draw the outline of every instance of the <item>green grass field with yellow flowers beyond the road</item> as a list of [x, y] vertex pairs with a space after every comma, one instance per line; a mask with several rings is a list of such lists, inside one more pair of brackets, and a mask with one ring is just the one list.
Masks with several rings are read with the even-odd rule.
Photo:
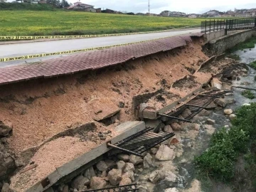
[[157, 31], [198, 25], [205, 18], [93, 14], [81, 11], [0, 11], [0, 36], [80, 35]]

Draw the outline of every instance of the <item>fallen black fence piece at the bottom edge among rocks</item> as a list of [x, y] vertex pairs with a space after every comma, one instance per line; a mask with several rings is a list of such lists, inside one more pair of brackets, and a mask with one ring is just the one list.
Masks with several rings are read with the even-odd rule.
[[[127, 186], [118, 186], [118, 187], [112, 187], [112, 188], [100, 188], [100, 189], [95, 189], [95, 190], [89, 190], [86, 192], [135, 192], [135, 191], [139, 191], [138, 185], [137, 183], [134, 184], [130, 184]], [[85, 192], [85, 191], [82, 191]]]

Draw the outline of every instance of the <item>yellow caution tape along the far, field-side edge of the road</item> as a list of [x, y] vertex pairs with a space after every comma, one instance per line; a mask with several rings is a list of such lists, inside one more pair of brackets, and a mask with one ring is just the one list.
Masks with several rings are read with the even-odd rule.
[[[197, 25], [193, 25], [197, 26]], [[182, 28], [188, 28], [191, 26], [186, 26]], [[179, 28], [174, 28], [179, 29]], [[170, 30], [170, 29], [169, 29]], [[114, 33], [114, 34], [102, 34], [102, 35], [80, 35], [80, 36], [0, 36], [1, 40], [33, 40], [33, 39], [65, 39], [65, 38], [95, 38], [95, 37], [109, 37], [109, 36], [128, 36], [128, 35], [137, 35], [137, 34], [146, 34], [146, 33], [160, 33], [164, 31], [148, 31], [148, 32], [137, 32], [137, 33]]]

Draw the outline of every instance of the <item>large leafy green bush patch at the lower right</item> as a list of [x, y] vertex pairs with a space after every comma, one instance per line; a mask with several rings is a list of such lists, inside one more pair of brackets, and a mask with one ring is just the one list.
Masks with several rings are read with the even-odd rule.
[[[232, 127], [229, 130], [221, 129], [213, 134], [210, 141], [210, 147], [200, 156], [195, 158], [198, 175], [201, 178], [213, 178], [215, 181], [224, 181], [231, 183], [235, 177], [235, 162], [240, 154], [247, 154], [248, 149], [252, 150], [251, 142], [256, 138], [256, 103], [250, 106], [242, 106], [236, 110], [237, 118], [233, 119]], [[250, 168], [255, 168], [256, 144], [252, 154], [252, 158], [245, 159]], [[254, 159], [256, 160], [256, 159]], [[250, 169], [249, 168], [249, 169]], [[256, 180], [254, 177], [250, 182]], [[200, 179], [200, 178], [199, 178]], [[209, 182], [208, 182], [209, 183]]]

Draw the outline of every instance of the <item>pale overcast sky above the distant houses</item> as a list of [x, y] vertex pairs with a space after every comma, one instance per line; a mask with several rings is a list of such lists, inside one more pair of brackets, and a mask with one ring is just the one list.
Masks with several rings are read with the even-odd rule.
[[[68, 0], [74, 3], [78, 0]], [[95, 8], [113, 9], [115, 11], [142, 12], [148, 10], [148, 0], [80, 0], [84, 4], [94, 5]], [[203, 14], [210, 9], [227, 11], [236, 9], [256, 8], [256, 0], [150, 0], [151, 13], [161, 11], [181, 11], [186, 14]]]

